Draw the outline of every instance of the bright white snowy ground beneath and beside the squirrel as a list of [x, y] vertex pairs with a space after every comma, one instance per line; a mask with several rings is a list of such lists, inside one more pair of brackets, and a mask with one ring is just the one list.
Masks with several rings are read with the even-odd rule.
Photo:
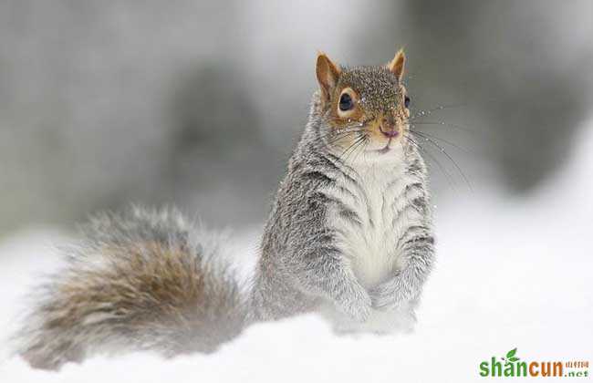
[[[593, 129], [587, 130], [564, 171], [528, 198], [478, 187], [439, 208], [438, 264], [411, 334], [335, 336], [322, 319], [302, 316], [251, 327], [207, 357], [96, 357], [60, 373], [3, 357], [0, 381], [476, 381], [482, 360], [514, 347], [529, 359], [592, 362]], [[15, 328], [26, 286], [55, 268], [47, 255], [60, 241], [57, 233], [36, 231], [0, 243], [0, 336]]]

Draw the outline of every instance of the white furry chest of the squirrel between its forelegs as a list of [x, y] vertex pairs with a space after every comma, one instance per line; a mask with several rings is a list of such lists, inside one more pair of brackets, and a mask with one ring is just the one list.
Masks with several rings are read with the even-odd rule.
[[341, 203], [328, 207], [328, 225], [361, 285], [372, 288], [405, 264], [398, 249], [407, 228], [421, 223], [413, 199], [422, 191], [409, 188], [418, 180], [404, 164], [373, 164], [345, 176], [331, 191]]

